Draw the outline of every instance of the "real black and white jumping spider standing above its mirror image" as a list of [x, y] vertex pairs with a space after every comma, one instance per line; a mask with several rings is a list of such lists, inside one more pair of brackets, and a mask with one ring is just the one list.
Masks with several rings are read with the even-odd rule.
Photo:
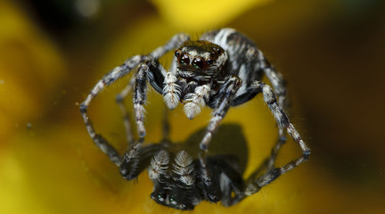
[[[167, 71], [159, 59], [174, 49], [175, 58]], [[310, 154], [307, 145], [283, 110], [286, 105], [286, 89], [282, 75], [274, 70], [248, 37], [234, 29], [211, 31], [203, 34], [198, 41], [190, 40], [184, 34], [177, 34], [166, 45], [158, 47], [152, 53], [135, 55], [106, 74], [80, 105], [88, 133], [99, 146], [102, 146], [104, 139], [94, 131], [87, 113], [88, 105], [104, 86], [111, 85], [130, 70], [136, 70], [135, 77], [119, 95], [118, 100], [121, 102], [127, 96], [129, 88], [134, 86], [135, 122], [141, 137], [145, 136], [143, 104], [146, 102], [148, 81], [163, 95], [169, 109], [176, 108], [178, 103], [184, 103], [184, 112], [189, 119], [197, 116], [205, 105], [214, 110], [200, 144], [201, 149], [206, 152], [211, 137], [230, 106], [246, 103], [258, 93], [262, 93], [279, 127], [282, 141], [285, 141], [286, 130], [299, 144], [302, 157], [306, 159]], [[261, 82], [264, 75], [274, 89]]]

